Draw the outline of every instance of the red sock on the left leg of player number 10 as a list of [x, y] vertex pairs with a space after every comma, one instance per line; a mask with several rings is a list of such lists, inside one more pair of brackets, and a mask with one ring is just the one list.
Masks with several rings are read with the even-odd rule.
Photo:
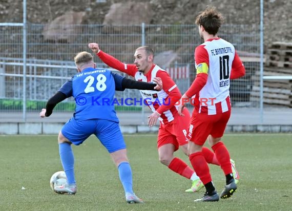
[[203, 182], [203, 184], [211, 182], [212, 178], [210, 175], [210, 170], [203, 156], [203, 153], [202, 152], [193, 153], [190, 155], [189, 158], [196, 174], [200, 177], [200, 180]]

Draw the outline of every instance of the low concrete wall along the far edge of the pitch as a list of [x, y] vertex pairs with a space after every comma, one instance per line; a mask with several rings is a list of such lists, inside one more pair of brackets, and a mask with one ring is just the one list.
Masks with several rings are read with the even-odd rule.
[[[64, 123], [47, 122], [0, 122], [0, 134], [58, 134]], [[154, 133], [158, 125], [150, 128], [148, 125], [121, 125], [122, 133]], [[291, 133], [292, 125], [227, 125], [226, 133], [233, 132], [265, 132], [265, 133]]]

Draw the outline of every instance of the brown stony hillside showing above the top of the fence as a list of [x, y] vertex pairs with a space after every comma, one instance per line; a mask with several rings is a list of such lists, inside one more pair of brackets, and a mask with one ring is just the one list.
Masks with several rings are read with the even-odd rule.
[[[112, 4], [131, 0], [27, 0], [29, 23], [46, 24], [68, 11], [86, 12], [84, 24], [102, 24]], [[2, 0], [0, 22], [23, 22], [23, 1]], [[100, 3], [103, 2], [103, 3]], [[225, 24], [260, 23], [260, 1], [254, 0], [150, 0], [151, 24], [193, 24], [206, 5], [216, 6], [225, 16]], [[137, 1], [133, 2], [134, 4]], [[272, 41], [292, 40], [292, 1], [264, 1], [265, 46]], [[131, 11], [131, 10], [130, 10]], [[133, 16], [133, 19], [137, 17]], [[127, 22], [128, 23], [128, 22]], [[127, 24], [124, 23], [124, 24]]]

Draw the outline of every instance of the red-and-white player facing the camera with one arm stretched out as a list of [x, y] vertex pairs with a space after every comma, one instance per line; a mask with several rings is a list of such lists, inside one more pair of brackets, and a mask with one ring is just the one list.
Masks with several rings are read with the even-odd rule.
[[[149, 108], [153, 113], [149, 116], [148, 124], [153, 126], [157, 119], [160, 120], [158, 131], [158, 154], [162, 164], [168, 166], [172, 171], [193, 181], [192, 188], [187, 192], [196, 192], [203, 187], [203, 184], [196, 173], [181, 159], [174, 157], [174, 152], [179, 146], [187, 155], [186, 130], [190, 122], [190, 113], [184, 109], [184, 116], [178, 114], [178, 106], [175, 103], [181, 97], [176, 83], [169, 74], [159, 66], [153, 64], [154, 52], [148, 46], [136, 49], [134, 64], [124, 64], [109, 54], [101, 51], [98, 44], [91, 43], [89, 48], [105, 62], [108, 66], [127, 73], [140, 81], [152, 81], [154, 77], [160, 77], [163, 87], [161, 91], [140, 91], [144, 100], [147, 100]], [[163, 103], [164, 102], [164, 103]], [[203, 154], [209, 163], [217, 164], [215, 154], [208, 148], [203, 148]]]

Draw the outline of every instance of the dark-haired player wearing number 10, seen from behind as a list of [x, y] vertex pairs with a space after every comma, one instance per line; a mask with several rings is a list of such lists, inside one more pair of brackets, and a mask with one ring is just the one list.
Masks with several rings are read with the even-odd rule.
[[245, 68], [234, 46], [217, 36], [222, 20], [222, 15], [214, 7], [207, 7], [197, 16], [196, 24], [204, 43], [195, 49], [197, 76], [179, 101], [178, 113], [182, 116], [183, 102], [194, 95], [195, 101], [199, 102], [195, 103], [187, 132], [191, 164], [206, 188], [205, 195], [196, 201], [219, 200], [202, 152], [209, 135], [212, 150], [226, 176], [226, 185], [220, 198], [231, 197], [237, 189], [230, 154], [221, 137], [231, 114], [230, 79], [242, 77]]

